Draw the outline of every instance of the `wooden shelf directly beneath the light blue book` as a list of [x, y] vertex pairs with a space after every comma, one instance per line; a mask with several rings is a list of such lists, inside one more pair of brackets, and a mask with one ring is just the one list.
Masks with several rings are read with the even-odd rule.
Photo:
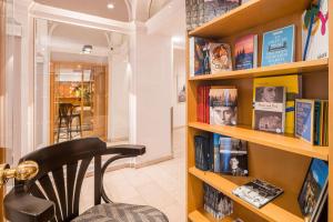
[[205, 74], [190, 78], [190, 81], [200, 80], [224, 80], [224, 79], [244, 79], [269, 75], [282, 75], [293, 73], [315, 73], [329, 70], [329, 60], [321, 59], [314, 61], [300, 61], [272, 67], [255, 68], [249, 70], [226, 71], [218, 74]]

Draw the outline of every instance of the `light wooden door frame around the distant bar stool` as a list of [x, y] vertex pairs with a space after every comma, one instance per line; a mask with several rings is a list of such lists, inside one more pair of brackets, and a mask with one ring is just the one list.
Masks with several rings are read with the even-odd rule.
[[[69, 68], [69, 69], [74, 69], [78, 65], [80, 65], [80, 68], [78, 69], [91, 69], [91, 67], [103, 67], [104, 72], [105, 72], [105, 138], [103, 138], [105, 141], [108, 140], [108, 119], [109, 117], [109, 64], [99, 64], [99, 63], [90, 63], [90, 62], [67, 62], [67, 61], [51, 61], [50, 62], [50, 128], [49, 128], [49, 132], [50, 132], [50, 143], [54, 143], [54, 134], [53, 134], [53, 130], [54, 130], [54, 81], [56, 81], [56, 70], [59, 69], [59, 67], [61, 65], [61, 68]], [[81, 118], [82, 119], [82, 118]], [[82, 121], [82, 120], [81, 120]]]

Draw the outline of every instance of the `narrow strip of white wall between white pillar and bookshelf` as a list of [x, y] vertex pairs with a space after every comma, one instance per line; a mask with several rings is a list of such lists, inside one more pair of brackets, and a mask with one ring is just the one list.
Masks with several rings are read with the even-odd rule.
[[172, 107], [173, 107], [173, 128], [185, 127], [185, 102], [178, 102], [178, 75], [186, 77], [185, 71], [185, 50], [173, 50], [173, 81], [172, 81]]

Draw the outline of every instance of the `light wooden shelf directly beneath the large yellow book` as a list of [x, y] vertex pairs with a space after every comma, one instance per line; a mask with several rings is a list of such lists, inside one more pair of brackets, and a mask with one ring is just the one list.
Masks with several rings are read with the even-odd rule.
[[201, 122], [190, 122], [190, 128], [198, 130], [203, 130], [208, 132], [219, 133], [241, 140], [246, 140], [256, 144], [264, 147], [292, 152], [301, 155], [306, 155], [310, 158], [317, 158], [321, 160], [329, 160], [329, 148], [327, 147], [314, 147], [301, 139], [292, 138], [287, 135], [268, 133], [263, 131], [256, 131], [252, 129], [246, 129], [242, 127], [221, 127], [221, 125], [210, 125]]

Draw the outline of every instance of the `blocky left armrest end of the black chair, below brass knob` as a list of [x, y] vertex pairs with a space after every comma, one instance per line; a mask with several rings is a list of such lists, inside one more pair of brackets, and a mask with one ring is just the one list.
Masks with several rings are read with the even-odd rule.
[[54, 218], [54, 204], [12, 189], [3, 200], [4, 215], [12, 222], [47, 222]]

